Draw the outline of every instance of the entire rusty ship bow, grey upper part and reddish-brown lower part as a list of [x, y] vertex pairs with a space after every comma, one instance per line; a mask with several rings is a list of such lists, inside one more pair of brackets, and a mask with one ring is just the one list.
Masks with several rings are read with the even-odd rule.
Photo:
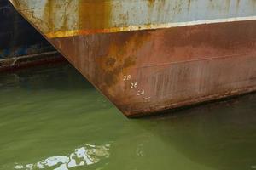
[[254, 0], [10, 0], [125, 116], [256, 90]]

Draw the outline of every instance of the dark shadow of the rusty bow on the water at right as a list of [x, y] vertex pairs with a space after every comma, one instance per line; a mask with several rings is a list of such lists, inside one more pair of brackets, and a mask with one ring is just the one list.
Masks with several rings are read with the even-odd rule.
[[[139, 123], [138, 129], [146, 128], [146, 132], [152, 133], [148, 140], [160, 138], [189, 161], [204, 166], [191, 166], [191, 169], [253, 170], [256, 165], [255, 104], [256, 94], [244, 95], [177, 111], [179, 116], [154, 116]], [[148, 126], [148, 122], [154, 126]], [[150, 146], [145, 150], [150, 150]], [[177, 156], [167, 156], [166, 162], [170, 163], [170, 157]]]

